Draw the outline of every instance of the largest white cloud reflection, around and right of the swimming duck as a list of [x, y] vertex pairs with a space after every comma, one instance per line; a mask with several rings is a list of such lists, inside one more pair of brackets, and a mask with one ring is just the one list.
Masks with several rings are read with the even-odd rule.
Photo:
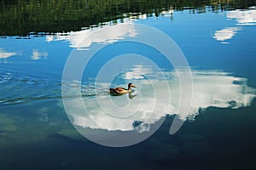
[[[138, 74], [140, 70], [142, 71], [141, 75]], [[79, 127], [108, 131], [137, 130], [143, 132], [148, 131], [150, 124], [159, 121], [166, 115], [179, 115], [177, 108], [180, 92], [176, 73], [166, 71], [164, 75], [169, 78], [161, 80], [159, 77], [147, 80], [144, 77], [147, 74], [153, 73], [152, 71], [147, 72], [147, 69], [143, 69], [142, 65], [137, 65], [136, 68], [131, 69], [130, 73], [126, 72], [122, 75], [124, 79], [135, 75], [132, 79], [138, 88], [135, 91], [137, 93], [135, 98], [129, 99], [128, 95], [114, 97], [102, 95], [84, 98], [84, 103], [70, 99], [72, 108], [69, 109], [72, 113], [68, 116], [73, 120], [73, 124]], [[247, 79], [233, 77], [226, 72], [193, 71], [193, 80], [194, 97], [191, 110], [189, 116], [179, 115], [183, 120], [194, 120], [200, 110], [208, 107], [230, 107], [232, 109], [246, 107], [251, 105], [255, 97], [255, 89], [247, 87]], [[88, 114], [84, 114], [81, 110], [84, 105]], [[136, 126], [137, 123], [140, 126]]]

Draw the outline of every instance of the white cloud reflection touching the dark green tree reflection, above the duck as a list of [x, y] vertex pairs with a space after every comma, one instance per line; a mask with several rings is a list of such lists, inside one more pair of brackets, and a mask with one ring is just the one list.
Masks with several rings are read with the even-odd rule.
[[[162, 11], [160, 14], [163, 17], [170, 17], [174, 13], [173, 8], [169, 10]], [[112, 26], [115, 29], [104, 29], [101, 31], [101, 34], [95, 34], [97, 30], [101, 29], [101, 27], [93, 27], [92, 29], [87, 29], [83, 31], [71, 31], [66, 33], [55, 33], [54, 35], [46, 36], [47, 42], [52, 41], [61, 41], [65, 40], [70, 42], [70, 47], [72, 48], [79, 48], [79, 49], [86, 49], [89, 48], [92, 43], [113, 43], [118, 41], [119, 39], [124, 39], [124, 37], [136, 37], [137, 32], [135, 30], [134, 21], [136, 20], [146, 20], [148, 19], [147, 14], [123, 14], [126, 15], [127, 18], [122, 20], [117, 20], [117, 23], [103, 23], [103, 27]], [[128, 17], [131, 15], [130, 17]], [[134, 16], [133, 16], [134, 15]], [[131, 25], [120, 26], [122, 23], [130, 23]], [[124, 29], [125, 28], [125, 29]], [[114, 30], [114, 31], [113, 31]], [[86, 41], [84, 41], [86, 39]]]

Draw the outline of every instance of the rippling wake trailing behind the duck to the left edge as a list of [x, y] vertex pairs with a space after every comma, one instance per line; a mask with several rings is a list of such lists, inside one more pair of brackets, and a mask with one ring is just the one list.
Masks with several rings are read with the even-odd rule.
[[71, 87], [79, 87], [81, 94], [61, 95], [61, 82], [38, 77], [15, 77], [11, 73], [0, 76], [0, 105], [24, 104], [33, 101], [55, 100], [62, 98], [93, 98], [96, 95], [108, 95], [107, 88], [95, 88], [94, 86], [80, 83], [70, 84]]

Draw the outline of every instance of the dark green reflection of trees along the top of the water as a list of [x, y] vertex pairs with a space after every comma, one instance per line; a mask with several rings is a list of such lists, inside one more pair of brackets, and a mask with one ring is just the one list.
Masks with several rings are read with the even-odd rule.
[[204, 13], [206, 6], [216, 12], [255, 4], [256, 0], [0, 0], [0, 36], [79, 31], [81, 27], [100, 26], [129, 15], [158, 16], [171, 7]]

